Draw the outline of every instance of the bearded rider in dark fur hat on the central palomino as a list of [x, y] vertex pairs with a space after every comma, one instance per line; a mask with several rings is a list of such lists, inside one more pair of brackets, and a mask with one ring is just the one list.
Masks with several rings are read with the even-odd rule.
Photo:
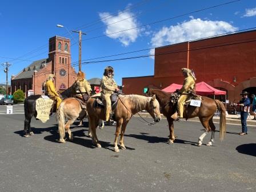
[[101, 79], [101, 88], [102, 88], [102, 97], [104, 98], [105, 105], [105, 115], [106, 121], [109, 121], [109, 115], [111, 111], [111, 101], [110, 96], [114, 93], [114, 91], [119, 91], [117, 87], [117, 83], [113, 79], [114, 69], [111, 66], [105, 68], [103, 77]]

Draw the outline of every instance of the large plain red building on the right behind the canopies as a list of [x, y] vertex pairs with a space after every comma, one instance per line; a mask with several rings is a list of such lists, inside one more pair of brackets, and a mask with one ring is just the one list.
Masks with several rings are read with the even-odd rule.
[[229, 101], [240, 99], [243, 90], [255, 94], [256, 30], [158, 47], [154, 75], [123, 78], [123, 92], [143, 94], [143, 87], [182, 84], [183, 67], [195, 71], [197, 82], [227, 91]]

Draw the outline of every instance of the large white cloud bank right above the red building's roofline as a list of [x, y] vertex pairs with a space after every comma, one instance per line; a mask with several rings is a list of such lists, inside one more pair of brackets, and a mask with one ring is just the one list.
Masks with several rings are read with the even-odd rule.
[[[155, 33], [151, 38], [151, 46], [160, 47], [174, 43], [191, 41], [194, 39], [232, 32], [237, 29], [237, 27], [234, 27], [230, 25], [230, 23], [224, 21], [210, 21], [190, 17], [190, 21], [184, 21], [175, 26], [162, 27], [162, 29]], [[151, 50], [150, 54], [154, 54], [154, 50]]]

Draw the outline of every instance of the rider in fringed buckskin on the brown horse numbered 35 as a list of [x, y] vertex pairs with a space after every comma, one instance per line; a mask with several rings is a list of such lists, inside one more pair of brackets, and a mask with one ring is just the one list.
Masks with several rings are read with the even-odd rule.
[[183, 109], [185, 101], [188, 97], [188, 93], [190, 91], [195, 90], [195, 80], [197, 80], [195, 78], [193, 71], [191, 71], [190, 69], [182, 68], [182, 74], [185, 77], [185, 79], [183, 81], [182, 88], [179, 90], [179, 94], [181, 95], [181, 97], [179, 97], [178, 99], [178, 117], [176, 113], [176, 115], [172, 116], [172, 118], [174, 119], [183, 118]]

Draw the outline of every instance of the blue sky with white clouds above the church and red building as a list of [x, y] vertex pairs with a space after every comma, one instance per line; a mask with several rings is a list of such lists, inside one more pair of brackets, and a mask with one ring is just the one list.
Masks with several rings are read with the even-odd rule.
[[[73, 37], [71, 37], [66, 29], [81, 29], [87, 33], [82, 37], [83, 60], [256, 27], [255, 0], [241, 0], [191, 13], [226, 2], [230, 1], [1, 1], [0, 63], [6, 61], [11, 63], [10, 81], [11, 74], [18, 74], [31, 62], [48, 57], [50, 37], [60, 35], [70, 38], [71, 43], [78, 41], [78, 34], [72, 33]], [[186, 15], [150, 25], [182, 14]], [[56, 27], [57, 24], [65, 26], [66, 29]], [[135, 29], [127, 30], [131, 28]], [[123, 32], [116, 33], [118, 31]], [[111, 33], [114, 34], [109, 35]], [[99, 37], [101, 35], [103, 37]], [[136, 57], [150, 53], [153, 54], [154, 50], [94, 61]], [[71, 46], [71, 54], [71, 62], [77, 62], [77, 44]], [[118, 85], [122, 84], [122, 77], [154, 74], [153, 57], [89, 63], [82, 65], [82, 71], [86, 73], [87, 79], [101, 78], [103, 69], [109, 65], [115, 69], [115, 80]], [[1, 66], [0, 69], [0, 83], [5, 83], [3, 67]], [[78, 71], [78, 66], [75, 66], [75, 69]]]

